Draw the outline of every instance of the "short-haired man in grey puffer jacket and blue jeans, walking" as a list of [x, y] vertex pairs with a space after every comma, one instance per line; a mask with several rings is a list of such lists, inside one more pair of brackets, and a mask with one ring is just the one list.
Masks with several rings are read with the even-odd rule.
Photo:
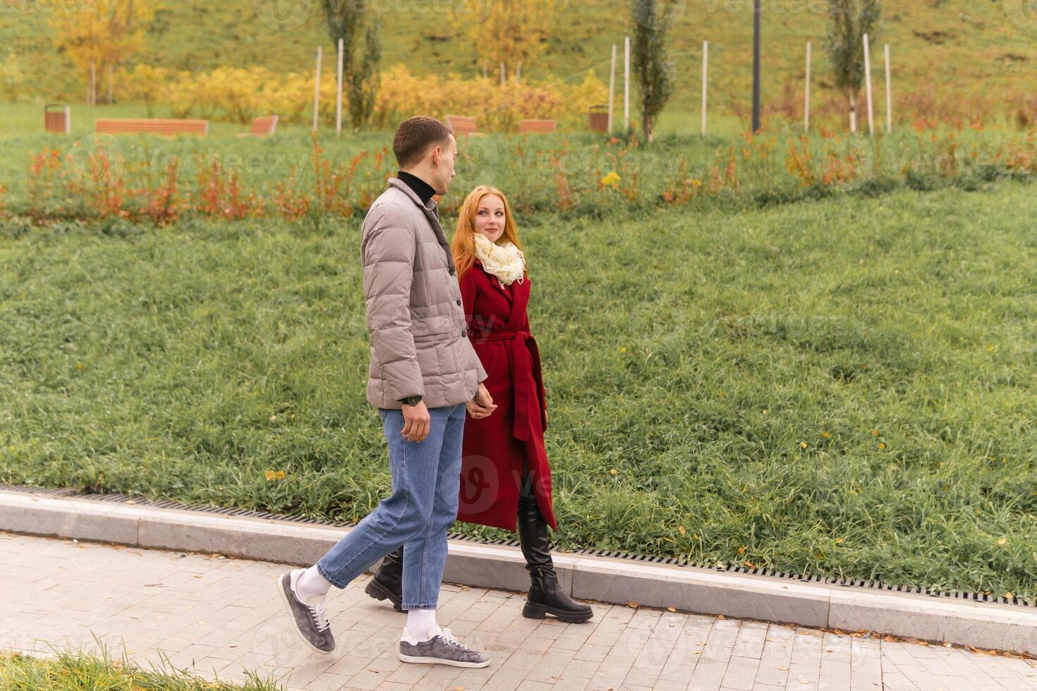
[[436, 622], [447, 528], [457, 516], [465, 414], [494, 405], [469, 341], [450, 244], [433, 194], [454, 175], [457, 142], [435, 118], [413, 117], [396, 129], [397, 177], [364, 219], [360, 250], [370, 335], [367, 401], [379, 409], [389, 442], [392, 495], [309, 569], [278, 582], [303, 640], [319, 653], [335, 649], [325, 596], [344, 588], [400, 545], [403, 662], [484, 667]]

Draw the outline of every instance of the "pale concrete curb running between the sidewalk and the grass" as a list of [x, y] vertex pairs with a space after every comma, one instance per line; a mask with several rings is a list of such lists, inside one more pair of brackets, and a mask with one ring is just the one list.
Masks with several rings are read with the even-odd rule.
[[[311, 565], [349, 528], [0, 491], [0, 530]], [[450, 542], [444, 580], [528, 589], [515, 547]], [[373, 568], [376, 565], [371, 565]], [[1037, 609], [587, 555], [555, 555], [574, 598], [1037, 655]]]

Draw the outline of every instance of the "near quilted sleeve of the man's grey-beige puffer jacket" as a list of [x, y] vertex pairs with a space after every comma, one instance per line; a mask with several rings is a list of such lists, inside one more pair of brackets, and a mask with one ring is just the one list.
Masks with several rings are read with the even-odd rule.
[[411, 333], [417, 238], [405, 221], [394, 221], [393, 217], [388, 205], [372, 208], [364, 222], [361, 243], [367, 330], [387, 401], [425, 395]]

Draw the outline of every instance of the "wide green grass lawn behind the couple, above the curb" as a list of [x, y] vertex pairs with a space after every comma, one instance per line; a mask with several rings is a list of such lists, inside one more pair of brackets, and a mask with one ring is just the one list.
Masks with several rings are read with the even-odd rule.
[[[1034, 218], [1012, 181], [527, 218], [555, 540], [1037, 596]], [[0, 236], [0, 480], [364, 516], [358, 226]]]

